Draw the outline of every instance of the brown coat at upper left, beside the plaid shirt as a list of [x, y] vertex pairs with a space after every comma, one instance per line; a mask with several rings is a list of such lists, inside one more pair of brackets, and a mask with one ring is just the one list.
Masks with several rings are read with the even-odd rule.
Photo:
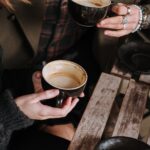
[[24, 68], [32, 61], [38, 48], [44, 12], [43, 0], [33, 0], [32, 5], [16, 2], [13, 12], [16, 17], [4, 8], [0, 10], [4, 68]]

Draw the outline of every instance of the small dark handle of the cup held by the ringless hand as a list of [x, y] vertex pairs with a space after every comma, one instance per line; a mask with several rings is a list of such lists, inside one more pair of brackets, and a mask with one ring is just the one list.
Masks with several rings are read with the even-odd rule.
[[59, 95], [56, 97], [56, 107], [62, 107], [63, 101], [66, 97], [66, 94], [63, 91], [60, 91]]

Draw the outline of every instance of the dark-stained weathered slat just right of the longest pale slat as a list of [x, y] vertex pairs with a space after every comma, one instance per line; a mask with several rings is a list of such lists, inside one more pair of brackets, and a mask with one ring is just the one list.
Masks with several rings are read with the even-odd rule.
[[113, 136], [138, 138], [147, 96], [147, 85], [130, 80], [129, 88], [123, 99]]

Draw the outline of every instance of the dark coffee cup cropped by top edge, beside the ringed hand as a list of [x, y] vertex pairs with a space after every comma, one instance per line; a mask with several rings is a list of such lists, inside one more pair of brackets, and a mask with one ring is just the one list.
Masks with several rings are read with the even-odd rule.
[[76, 23], [92, 27], [107, 16], [110, 4], [110, 0], [103, 0], [101, 5], [91, 3], [91, 0], [68, 0], [68, 10]]

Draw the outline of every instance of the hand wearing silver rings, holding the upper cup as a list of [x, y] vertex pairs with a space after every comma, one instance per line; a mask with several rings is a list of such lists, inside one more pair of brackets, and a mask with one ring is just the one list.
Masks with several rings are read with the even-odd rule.
[[109, 17], [97, 24], [98, 28], [107, 28], [105, 35], [121, 37], [130, 34], [138, 25], [140, 10], [134, 5], [118, 3], [112, 7], [117, 16]]

